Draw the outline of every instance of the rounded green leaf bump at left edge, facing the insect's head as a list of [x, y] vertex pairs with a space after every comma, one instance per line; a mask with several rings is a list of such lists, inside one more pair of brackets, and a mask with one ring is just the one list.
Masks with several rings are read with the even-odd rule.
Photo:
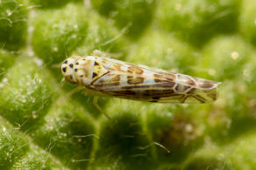
[[38, 126], [37, 121], [46, 114], [56, 91], [49, 78], [47, 71], [30, 59], [18, 58], [2, 83], [0, 105], [5, 119], [25, 131]]

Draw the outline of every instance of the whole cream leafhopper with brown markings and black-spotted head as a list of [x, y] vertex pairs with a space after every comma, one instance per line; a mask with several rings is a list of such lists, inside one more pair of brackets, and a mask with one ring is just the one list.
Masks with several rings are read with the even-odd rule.
[[72, 57], [61, 65], [65, 79], [95, 96], [156, 103], [210, 103], [220, 83], [96, 56]]

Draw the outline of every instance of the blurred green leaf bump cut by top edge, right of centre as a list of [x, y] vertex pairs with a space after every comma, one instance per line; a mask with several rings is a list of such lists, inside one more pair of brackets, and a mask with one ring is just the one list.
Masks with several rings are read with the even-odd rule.
[[210, 37], [238, 30], [240, 0], [163, 0], [159, 19], [168, 31], [196, 47]]

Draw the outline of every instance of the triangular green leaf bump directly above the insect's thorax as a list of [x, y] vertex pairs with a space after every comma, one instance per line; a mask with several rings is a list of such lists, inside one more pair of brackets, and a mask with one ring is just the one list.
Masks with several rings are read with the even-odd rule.
[[92, 51], [104, 51], [106, 56], [111, 53], [113, 57], [124, 58], [127, 43], [119, 37], [122, 37], [125, 31], [118, 31], [112, 22], [100, 17], [95, 11], [90, 11], [88, 15], [89, 33], [75, 54], [82, 56]]

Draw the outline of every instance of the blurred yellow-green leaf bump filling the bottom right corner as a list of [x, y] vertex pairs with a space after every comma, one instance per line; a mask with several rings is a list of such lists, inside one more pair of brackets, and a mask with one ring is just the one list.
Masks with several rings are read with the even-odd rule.
[[227, 146], [216, 147], [207, 144], [198, 150], [195, 157], [188, 159], [182, 166], [184, 169], [254, 169], [256, 162], [255, 135], [242, 134], [240, 139]]

